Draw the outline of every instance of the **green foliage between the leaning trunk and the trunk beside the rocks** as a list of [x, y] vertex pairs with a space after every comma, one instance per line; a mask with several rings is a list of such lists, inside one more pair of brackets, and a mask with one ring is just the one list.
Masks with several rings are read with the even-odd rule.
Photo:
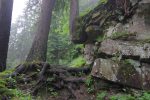
[[51, 64], [70, 65], [81, 54], [82, 45], [75, 45], [69, 35], [69, 2], [56, 1], [48, 39], [47, 61]]

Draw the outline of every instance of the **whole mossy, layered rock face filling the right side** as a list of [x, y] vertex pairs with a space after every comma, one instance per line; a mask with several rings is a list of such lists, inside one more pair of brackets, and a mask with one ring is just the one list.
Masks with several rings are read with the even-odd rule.
[[128, 1], [127, 13], [109, 4], [97, 7], [82, 17], [78, 32], [87, 35], [84, 55], [87, 64], [94, 62], [93, 76], [150, 90], [150, 0]]

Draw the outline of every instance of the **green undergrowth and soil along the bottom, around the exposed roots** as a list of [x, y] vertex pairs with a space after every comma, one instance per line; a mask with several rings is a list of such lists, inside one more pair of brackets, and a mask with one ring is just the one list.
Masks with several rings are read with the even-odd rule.
[[[21, 79], [33, 76], [37, 72], [20, 74], [19, 77], [11, 78], [10, 74], [13, 71], [0, 73], [0, 100], [150, 100], [148, 91], [125, 88], [83, 73], [76, 74], [74, 77], [85, 77], [84, 83], [72, 81], [68, 84], [60, 84], [60, 80], [55, 79], [57, 74], [49, 76], [45, 84], [39, 88], [37, 95], [32, 96], [30, 89], [35, 87], [37, 80], [23, 82]], [[55, 82], [55, 86], [52, 82]], [[68, 86], [72, 84], [70, 85], [72, 87], [67, 87], [65, 84]], [[64, 85], [64, 87], [58, 89], [58, 85]]]

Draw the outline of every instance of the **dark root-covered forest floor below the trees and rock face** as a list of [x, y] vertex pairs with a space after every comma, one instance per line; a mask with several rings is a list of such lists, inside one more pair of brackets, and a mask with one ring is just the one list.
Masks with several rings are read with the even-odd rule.
[[[150, 100], [150, 92], [131, 89], [90, 75], [90, 67], [68, 68], [48, 63], [22, 64], [8, 78], [10, 93], [0, 89], [2, 100]], [[15, 81], [14, 81], [15, 80]], [[2, 91], [3, 90], [3, 91]], [[26, 95], [29, 93], [29, 95]], [[12, 99], [11, 99], [12, 98]]]

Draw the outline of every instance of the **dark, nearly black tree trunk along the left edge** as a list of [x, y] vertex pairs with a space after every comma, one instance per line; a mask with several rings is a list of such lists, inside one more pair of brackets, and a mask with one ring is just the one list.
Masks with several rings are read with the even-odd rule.
[[0, 72], [6, 69], [13, 0], [0, 0]]

